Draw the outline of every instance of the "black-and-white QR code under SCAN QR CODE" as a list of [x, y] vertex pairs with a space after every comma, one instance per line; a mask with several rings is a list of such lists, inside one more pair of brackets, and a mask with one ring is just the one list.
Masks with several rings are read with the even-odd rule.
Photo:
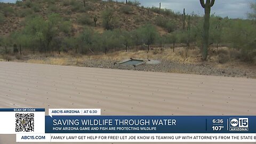
[[34, 114], [15, 114], [15, 132], [34, 132]]

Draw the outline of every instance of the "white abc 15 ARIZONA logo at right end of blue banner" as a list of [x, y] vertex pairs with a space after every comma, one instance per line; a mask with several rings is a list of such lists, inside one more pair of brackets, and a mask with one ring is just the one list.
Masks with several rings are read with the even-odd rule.
[[248, 118], [229, 118], [229, 131], [246, 132], [249, 131]]

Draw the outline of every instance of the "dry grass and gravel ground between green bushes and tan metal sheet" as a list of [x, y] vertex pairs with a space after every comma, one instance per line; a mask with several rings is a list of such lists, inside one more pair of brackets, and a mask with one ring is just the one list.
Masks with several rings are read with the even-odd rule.
[[[227, 47], [219, 48], [219, 52], [231, 53]], [[215, 53], [214, 53], [215, 52]], [[162, 73], [180, 73], [180, 74], [196, 74], [196, 75], [212, 75], [212, 76], [227, 76], [227, 77], [245, 77], [256, 78], [256, 65], [254, 63], [245, 63], [231, 58], [225, 63], [219, 62], [219, 55], [215, 49], [210, 51], [211, 57], [207, 61], [202, 61], [197, 50], [189, 50], [189, 57], [185, 57], [183, 47], [177, 47], [175, 52], [172, 49], [154, 49], [147, 51], [128, 51], [128, 52], [111, 52], [107, 55], [81, 55], [74, 53], [57, 53], [52, 54], [36, 54], [11, 55], [10, 61], [28, 62], [28, 63], [43, 63], [49, 65], [62, 66], [79, 66], [92, 68], [110, 68], [110, 69], [127, 69], [139, 71], [156, 71]], [[233, 52], [234, 53], [234, 52]], [[115, 65], [114, 62], [120, 62], [125, 59], [143, 59], [147, 61], [159, 60], [158, 65], [139, 65], [137, 67]], [[0, 60], [1, 61], [1, 60]], [[6, 60], [2, 60], [6, 61]]]

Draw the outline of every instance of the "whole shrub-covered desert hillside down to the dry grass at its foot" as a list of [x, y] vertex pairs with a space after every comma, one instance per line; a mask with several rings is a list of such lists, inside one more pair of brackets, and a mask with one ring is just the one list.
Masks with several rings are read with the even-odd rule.
[[[143, 7], [139, 1], [0, 3], [0, 60], [51, 64], [58, 63], [51, 59], [58, 59], [61, 65], [77, 65], [79, 62], [73, 58], [85, 61], [91, 56], [100, 60], [108, 57], [116, 62], [132, 55], [139, 59], [193, 64], [206, 61], [217, 68], [255, 70], [255, 21], [209, 13], [209, 37], [205, 38], [204, 18], [185, 9], [174, 13], [162, 7]], [[205, 39], [209, 39], [207, 44]], [[68, 62], [63, 62], [65, 59]]]

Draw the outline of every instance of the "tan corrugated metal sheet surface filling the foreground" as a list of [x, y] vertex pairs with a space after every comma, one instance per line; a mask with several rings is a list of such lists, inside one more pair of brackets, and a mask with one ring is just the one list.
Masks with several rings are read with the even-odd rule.
[[[4, 108], [101, 108], [102, 115], [254, 115], [255, 87], [251, 78], [0, 62]], [[1, 135], [0, 143], [15, 143], [15, 136]]]

